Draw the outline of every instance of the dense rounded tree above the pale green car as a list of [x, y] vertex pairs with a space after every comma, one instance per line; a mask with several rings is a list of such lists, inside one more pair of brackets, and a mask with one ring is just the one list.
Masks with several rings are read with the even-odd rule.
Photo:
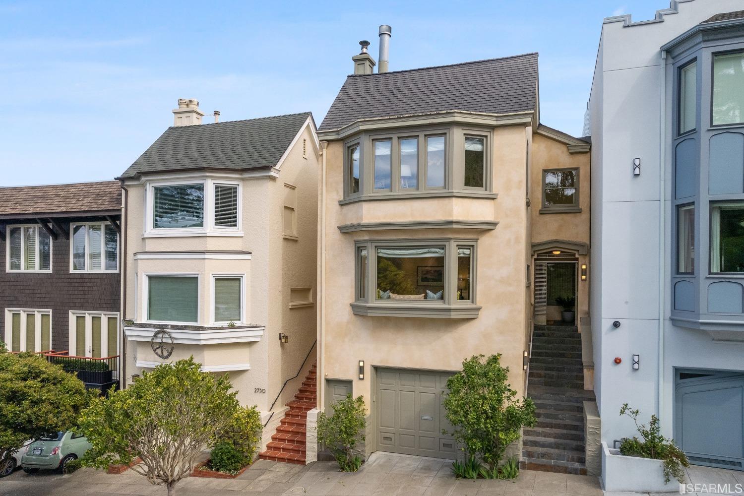
[[72, 428], [93, 396], [59, 365], [0, 342], [0, 471], [28, 439]]

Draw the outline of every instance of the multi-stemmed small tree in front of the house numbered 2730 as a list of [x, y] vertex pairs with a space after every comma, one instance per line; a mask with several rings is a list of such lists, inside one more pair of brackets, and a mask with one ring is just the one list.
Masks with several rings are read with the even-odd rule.
[[193, 357], [158, 365], [83, 412], [80, 428], [92, 444], [83, 462], [106, 468], [139, 457], [132, 470], [173, 496], [199, 453], [240, 411], [230, 389], [227, 375], [202, 372]]

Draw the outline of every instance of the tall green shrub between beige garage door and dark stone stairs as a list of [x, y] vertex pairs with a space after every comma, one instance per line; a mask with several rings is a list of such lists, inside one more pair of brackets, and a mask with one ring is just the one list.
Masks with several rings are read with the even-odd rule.
[[454, 431], [449, 434], [464, 445], [471, 456], [487, 463], [491, 474], [510, 443], [519, 439], [522, 428], [536, 423], [535, 404], [516, 399], [507, 382], [509, 367], [501, 367], [501, 354], [477, 355], [463, 361], [463, 370], [447, 379], [449, 393], [443, 405]]

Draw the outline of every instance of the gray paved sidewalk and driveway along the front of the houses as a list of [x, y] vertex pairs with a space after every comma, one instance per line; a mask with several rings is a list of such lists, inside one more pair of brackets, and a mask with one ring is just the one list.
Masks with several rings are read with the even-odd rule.
[[[448, 460], [375, 453], [354, 473], [338, 471], [336, 462], [308, 466], [258, 460], [235, 480], [190, 477], [176, 486], [179, 496], [602, 496], [597, 477], [522, 470], [515, 481], [455, 480]], [[110, 475], [83, 468], [70, 475], [16, 472], [0, 480], [0, 496], [157, 495], [132, 471]]]

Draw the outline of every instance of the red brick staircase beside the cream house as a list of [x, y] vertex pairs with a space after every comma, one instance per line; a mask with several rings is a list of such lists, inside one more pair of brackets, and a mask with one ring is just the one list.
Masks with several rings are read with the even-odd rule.
[[261, 460], [305, 464], [307, 412], [315, 408], [318, 390], [316, 365], [312, 364], [300, 390], [295, 394], [295, 399], [286, 404], [289, 410], [284, 413], [276, 433], [266, 445], [266, 451], [258, 454]]

